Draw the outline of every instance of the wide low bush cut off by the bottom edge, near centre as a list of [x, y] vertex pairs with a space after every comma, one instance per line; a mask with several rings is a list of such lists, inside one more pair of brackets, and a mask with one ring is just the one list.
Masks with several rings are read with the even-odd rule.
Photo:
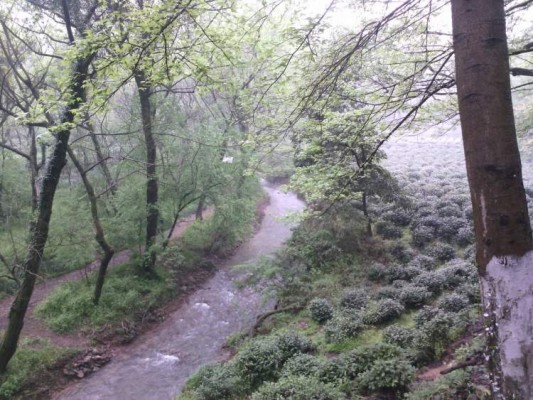
[[252, 395], [252, 400], [344, 400], [346, 396], [331, 384], [316, 378], [288, 376], [266, 383]]

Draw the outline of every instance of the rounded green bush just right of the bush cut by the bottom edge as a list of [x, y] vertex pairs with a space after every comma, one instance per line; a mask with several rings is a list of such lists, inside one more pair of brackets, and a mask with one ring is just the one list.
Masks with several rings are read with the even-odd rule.
[[414, 367], [405, 360], [378, 360], [372, 368], [360, 375], [358, 383], [365, 390], [401, 396], [414, 377]]

